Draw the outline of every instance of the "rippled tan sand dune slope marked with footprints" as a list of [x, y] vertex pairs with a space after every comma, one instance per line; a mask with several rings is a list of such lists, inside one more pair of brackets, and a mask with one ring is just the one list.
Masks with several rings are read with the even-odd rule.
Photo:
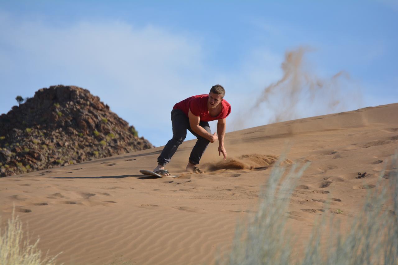
[[[398, 149], [398, 103], [228, 133], [234, 161], [217, 164], [217, 144], [211, 144], [204, 174], [183, 172], [193, 144], [184, 142], [168, 166], [181, 174], [177, 179], [139, 174], [156, 166], [162, 147], [1, 178], [2, 220], [15, 204], [33, 238], [40, 236], [40, 248], [63, 251], [58, 260], [66, 264], [211, 263], [230, 248], [236, 221], [255, 210], [271, 163], [285, 152], [288, 168], [311, 162], [286, 213], [304, 240], [326, 204], [342, 212], [337, 218], [351, 220], [367, 189], [388, 185], [394, 169], [386, 160]], [[231, 166], [243, 169], [216, 170]], [[377, 184], [385, 167], [387, 177]], [[367, 174], [357, 179], [358, 172]]]

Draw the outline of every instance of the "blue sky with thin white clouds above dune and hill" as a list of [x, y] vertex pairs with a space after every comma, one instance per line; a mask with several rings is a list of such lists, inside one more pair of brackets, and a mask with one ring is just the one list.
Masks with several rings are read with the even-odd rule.
[[[397, 25], [396, 1], [1, 0], [0, 113], [16, 95], [80, 86], [161, 146], [172, 136], [173, 105], [214, 84], [232, 105], [228, 131], [281, 113], [293, 119], [396, 103]], [[275, 92], [251, 111], [282, 78], [285, 53], [299, 47], [308, 49], [307, 74], [349, 78], [315, 98], [303, 90], [293, 106], [283, 98], [289, 93]], [[325, 107], [331, 95], [339, 104]], [[242, 113], [244, 124], [236, 122]]]

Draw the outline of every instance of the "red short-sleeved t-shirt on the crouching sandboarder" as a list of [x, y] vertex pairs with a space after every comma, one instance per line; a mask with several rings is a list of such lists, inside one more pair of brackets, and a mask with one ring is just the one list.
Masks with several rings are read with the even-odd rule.
[[226, 118], [231, 113], [231, 105], [224, 99], [221, 101], [221, 112], [217, 117], [212, 117], [207, 109], [207, 100], [209, 95], [195, 95], [179, 101], [173, 109], [181, 109], [188, 117], [188, 111], [195, 116], [199, 116], [201, 121], [215, 121]]

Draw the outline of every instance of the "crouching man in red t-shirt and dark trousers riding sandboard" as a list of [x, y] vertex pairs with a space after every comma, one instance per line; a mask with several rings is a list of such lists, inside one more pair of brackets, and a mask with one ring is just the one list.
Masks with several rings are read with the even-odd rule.
[[[196, 167], [209, 143], [219, 140], [219, 155], [226, 160], [224, 135], [226, 117], [231, 113], [231, 105], [223, 99], [225, 90], [220, 85], [211, 88], [209, 95], [188, 97], [174, 105], [172, 110], [173, 138], [164, 146], [158, 157], [158, 166], [153, 170], [160, 175], [168, 176], [164, 166], [170, 162], [178, 146], [185, 140], [187, 129], [197, 137], [192, 149], [186, 170], [192, 173], [203, 173]], [[217, 132], [211, 134], [209, 121], [217, 120]], [[217, 134], [218, 133], [218, 134]]]

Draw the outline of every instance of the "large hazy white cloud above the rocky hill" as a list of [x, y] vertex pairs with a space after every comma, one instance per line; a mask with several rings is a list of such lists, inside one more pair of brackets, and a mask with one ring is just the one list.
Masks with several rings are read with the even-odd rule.
[[203, 88], [198, 78], [203, 51], [191, 37], [121, 21], [53, 27], [1, 20], [1, 68], [14, 75], [6, 79], [17, 80], [25, 72], [40, 80], [34, 90], [54, 84], [86, 88], [157, 145], [162, 134], [171, 134], [174, 103]]

